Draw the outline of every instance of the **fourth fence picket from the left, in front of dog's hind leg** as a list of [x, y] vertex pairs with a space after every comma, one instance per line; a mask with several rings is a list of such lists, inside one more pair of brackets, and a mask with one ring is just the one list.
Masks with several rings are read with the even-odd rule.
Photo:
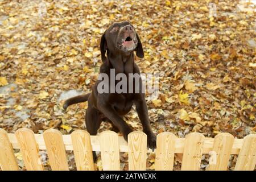
[[78, 171], [93, 171], [92, 144], [90, 134], [85, 130], [76, 130], [71, 134], [76, 168]]

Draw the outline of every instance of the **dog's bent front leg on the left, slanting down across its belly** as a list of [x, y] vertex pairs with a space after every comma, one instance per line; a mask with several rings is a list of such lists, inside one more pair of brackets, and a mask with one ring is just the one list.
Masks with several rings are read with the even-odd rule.
[[127, 123], [118, 115], [118, 113], [110, 106], [108, 103], [97, 103], [98, 109], [105, 115], [105, 117], [109, 118], [110, 121], [113, 122], [113, 125], [116, 126], [119, 131], [123, 134], [123, 138], [128, 140], [128, 134], [133, 130], [127, 125]]

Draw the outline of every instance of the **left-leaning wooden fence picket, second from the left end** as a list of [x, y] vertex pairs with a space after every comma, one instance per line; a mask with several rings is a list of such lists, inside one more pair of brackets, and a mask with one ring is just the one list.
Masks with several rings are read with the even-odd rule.
[[24, 164], [28, 171], [43, 171], [43, 164], [40, 159], [38, 144], [34, 132], [27, 128], [18, 129], [15, 132]]

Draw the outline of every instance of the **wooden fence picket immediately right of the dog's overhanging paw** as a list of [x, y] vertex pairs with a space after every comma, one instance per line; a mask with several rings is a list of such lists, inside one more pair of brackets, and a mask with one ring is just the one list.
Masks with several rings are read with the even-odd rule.
[[172, 171], [174, 167], [176, 136], [170, 132], [160, 133], [156, 138], [155, 170]]

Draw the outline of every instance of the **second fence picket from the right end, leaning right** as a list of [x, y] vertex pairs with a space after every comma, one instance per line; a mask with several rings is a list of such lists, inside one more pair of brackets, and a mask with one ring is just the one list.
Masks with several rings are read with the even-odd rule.
[[209, 162], [210, 171], [226, 171], [233, 143], [234, 137], [229, 133], [220, 133], [214, 137], [212, 149], [214, 153], [211, 157], [216, 157], [216, 160], [213, 160], [216, 164]]

